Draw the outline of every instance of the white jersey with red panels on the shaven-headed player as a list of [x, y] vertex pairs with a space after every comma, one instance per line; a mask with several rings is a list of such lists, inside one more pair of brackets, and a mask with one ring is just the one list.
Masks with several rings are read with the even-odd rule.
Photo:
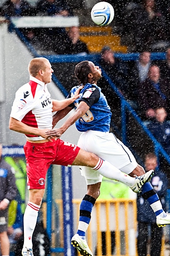
[[[10, 116], [32, 127], [52, 129], [52, 107], [47, 85], [30, 76], [30, 82], [16, 91]], [[40, 136], [25, 135], [29, 140], [44, 140]]]

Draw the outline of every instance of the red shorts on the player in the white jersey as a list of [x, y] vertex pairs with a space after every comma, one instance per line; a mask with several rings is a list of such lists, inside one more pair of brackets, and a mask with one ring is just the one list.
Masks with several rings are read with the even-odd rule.
[[51, 164], [71, 165], [80, 148], [63, 140], [45, 143], [26, 142], [24, 145], [27, 161], [28, 189], [44, 189], [46, 173]]

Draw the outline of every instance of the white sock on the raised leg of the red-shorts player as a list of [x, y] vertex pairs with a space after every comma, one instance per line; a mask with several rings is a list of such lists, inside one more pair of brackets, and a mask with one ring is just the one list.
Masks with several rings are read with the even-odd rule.
[[129, 187], [132, 187], [134, 185], [135, 178], [121, 172], [115, 166], [107, 161], [103, 161], [102, 159], [99, 159], [97, 165], [92, 169], [97, 170], [101, 175], [108, 179], [121, 181]]

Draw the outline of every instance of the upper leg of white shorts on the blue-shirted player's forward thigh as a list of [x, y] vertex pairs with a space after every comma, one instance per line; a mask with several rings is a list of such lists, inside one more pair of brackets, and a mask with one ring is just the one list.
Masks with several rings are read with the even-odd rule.
[[[113, 133], [84, 132], [80, 135], [78, 146], [107, 160], [128, 174], [137, 167], [137, 162], [129, 148], [118, 140]], [[126, 170], [126, 166], [128, 170]]]

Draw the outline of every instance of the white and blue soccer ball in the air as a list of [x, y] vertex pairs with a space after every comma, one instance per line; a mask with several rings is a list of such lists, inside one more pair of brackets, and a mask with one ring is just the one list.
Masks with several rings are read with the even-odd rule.
[[91, 19], [99, 26], [106, 26], [114, 18], [113, 6], [107, 2], [99, 2], [91, 9]]

